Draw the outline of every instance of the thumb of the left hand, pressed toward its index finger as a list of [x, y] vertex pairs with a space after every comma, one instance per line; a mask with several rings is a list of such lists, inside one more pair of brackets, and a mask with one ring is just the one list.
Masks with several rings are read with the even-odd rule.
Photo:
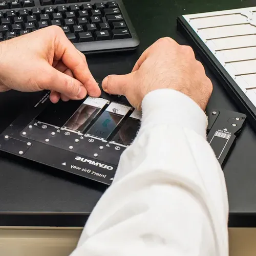
[[49, 68], [47, 77], [41, 81], [42, 89], [59, 92], [70, 99], [83, 99], [87, 95], [87, 90], [83, 84], [65, 73], [53, 67]]

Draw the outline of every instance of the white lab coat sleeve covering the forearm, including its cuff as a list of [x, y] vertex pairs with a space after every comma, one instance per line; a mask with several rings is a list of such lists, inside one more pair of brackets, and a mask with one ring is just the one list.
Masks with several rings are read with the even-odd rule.
[[206, 126], [184, 94], [147, 94], [139, 133], [72, 256], [228, 256], [226, 185]]

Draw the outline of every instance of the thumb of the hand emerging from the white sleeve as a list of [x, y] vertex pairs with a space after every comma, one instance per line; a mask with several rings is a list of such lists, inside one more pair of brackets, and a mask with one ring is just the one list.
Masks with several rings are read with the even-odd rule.
[[102, 81], [102, 89], [109, 94], [125, 96], [126, 90], [133, 83], [135, 72], [126, 75], [109, 75]]

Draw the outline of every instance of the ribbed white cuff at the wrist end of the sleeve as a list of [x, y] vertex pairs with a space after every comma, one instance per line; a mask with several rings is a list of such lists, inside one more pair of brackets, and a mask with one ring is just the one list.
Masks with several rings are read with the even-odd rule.
[[206, 137], [207, 117], [193, 99], [172, 89], [148, 93], [142, 101], [141, 129], [169, 124], [194, 130]]

